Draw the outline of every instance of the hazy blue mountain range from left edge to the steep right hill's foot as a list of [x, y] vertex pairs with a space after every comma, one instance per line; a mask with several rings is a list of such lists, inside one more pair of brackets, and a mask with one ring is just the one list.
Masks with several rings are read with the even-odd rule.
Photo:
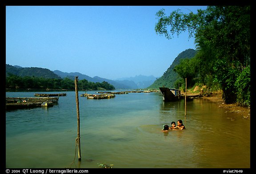
[[29, 76], [29, 77], [44, 77], [44, 78], [70, 78], [74, 79], [75, 76], [78, 76], [79, 80], [86, 79], [92, 82], [103, 82], [106, 81], [109, 84], [113, 85], [116, 89], [144, 89], [151, 85], [155, 80], [156, 77], [154, 76], [143, 76], [139, 75], [136, 77], [128, 77], [122, 78], [118, 80], [109, 80], [106, 78], [101, 78], [98, 76], [89, 77], [85, 74], [81, 74], [78, 72], [75, 73], [66, 73], [60, 70], [48, 70], [46, 68], [38, 68], [38, 67], [21, 67], [21, 66], [12, 66], [12, 65], [5, 65], [5, 75], [8, 76], [10, 74], [14, 74], [17, 76]]

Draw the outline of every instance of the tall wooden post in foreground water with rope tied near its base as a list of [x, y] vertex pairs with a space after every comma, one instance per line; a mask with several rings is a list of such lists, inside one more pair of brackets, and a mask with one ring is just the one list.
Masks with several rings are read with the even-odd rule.
[[81, 152], [80, 152], [80, 113], [79, 113], [79, 99], [78, 99], [78, 90], [77, 90], [77, 81], [78, 76], [75, 77], [75, 89], [76, 89], [76, 113], [77, 113], [77, 146], [78, 146], [78, 160], [81, 160]]

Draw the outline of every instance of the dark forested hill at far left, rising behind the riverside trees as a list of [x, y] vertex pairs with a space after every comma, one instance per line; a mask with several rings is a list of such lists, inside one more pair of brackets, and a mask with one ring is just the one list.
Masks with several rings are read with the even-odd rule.
[[11, 66], [9, 64], [5, 64], [5, 76], [8, 77], [9, 74], [14, 74], [20, 77], [44, 77], [44, 78], [60, 78], [56, 73], [52, 72], [46, 68], [22, 68], [20, 66]]

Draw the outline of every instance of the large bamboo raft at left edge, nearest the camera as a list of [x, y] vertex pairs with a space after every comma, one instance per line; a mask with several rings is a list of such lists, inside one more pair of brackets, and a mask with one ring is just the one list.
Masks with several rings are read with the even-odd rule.
[[43, 103], [58, 101], [59, 97], [5, 97], [5, 109], [34, 108], [43, 106]]

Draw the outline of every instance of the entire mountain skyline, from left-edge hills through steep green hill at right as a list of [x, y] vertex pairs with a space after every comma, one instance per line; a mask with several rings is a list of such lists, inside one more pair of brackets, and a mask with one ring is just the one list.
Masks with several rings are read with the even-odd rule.
[[[75, 72], [75, 73], [65, 73], [60, 70], [48, 70], [46, 68], [37, 68], [37, 67], [21, 67], [21, 66], [11, 66], [6, 64], [6, 76], [9, 73], [17, 75], [17, 76], [30, 76], [30, 77], [44, 77], [44, 78], [65, 78], [68, 77], [70, 79], [74, 79], [75, 76], [78, 76], [79, 80], [86, 79], [92, 82], [103, 82], [106, 81], [109, 84], [113, 85], [116, 89], [158, 89], [160, 86], [166, 86], [170, 88], [174, 88], [176, 80], [180, 77], [178, 74], [173, 71], [174, 67], [180, 63], [181, 59], [184, 58], [192, 58], [196, 55], [196, 50], [188, 49], [181, 52], [172, 62], [172, 65], [165, 71], [165, 73], [160, 77], [154, 76], [144, 76], [138, 75], [135, 77], [124, 77], [116, 80], [109, 80], [106, 78], [101, 78], [98, 76], [89, 77], [87, 75]], [[169, 64], [169, 62], [166, 62]]]

